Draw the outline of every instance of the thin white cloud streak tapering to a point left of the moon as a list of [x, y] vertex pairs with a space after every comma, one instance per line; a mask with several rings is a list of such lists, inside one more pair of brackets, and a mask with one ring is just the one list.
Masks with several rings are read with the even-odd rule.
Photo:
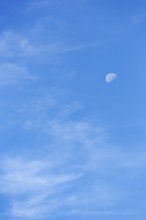
[[[37, 27], [32, 28], [33, 32], [35, 28]], [[42, 34], [44, 34], [43, 30]], [[53, 37], [53, 33], [49, 31], [46, 34], [52, 34]], [[39, 35], [41, 35], [41, 32]], [[13, 57], [19, 60], [23, 59], [23, 57], [28, 57], [29, 59], [30, 57], [38, 57], [41, 61], [46, 61], [46, 56], [48, 56], [47, 61], [52, 61], [53, 58], [55, 59], [55, 56], [98, 47], [109, 42], [109, 40], [103, 40], [79, 45], [70, 45], [63, 41], [63, 39], [56, 39], [53, 42], [49, 40], [37, 42], [34, 40], [31, 30], [28, 30], [28, 33], [25, 33], [25, 35], [13, 30], [4, 31], [0, 35], [0, 54], [2, 54], [4, 58]]]

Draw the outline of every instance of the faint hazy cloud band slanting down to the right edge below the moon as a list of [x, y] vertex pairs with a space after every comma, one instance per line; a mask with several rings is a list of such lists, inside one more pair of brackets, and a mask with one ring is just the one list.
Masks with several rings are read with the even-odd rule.
[[82, 111], [83, 106], [80, 102], [66, 99], [61, 93], [53, 90], [22, 106], [20, 111], [25, 115], [22, 121], [20, 119], [22, 126], [29, 131], [41, 131], [57, 148], [60, 157], [66, 154], [70, 161], [71, 158], [80, 158], [79, 164], [75, 165], [84, 171], [145, 167], [144, 153], [139, 151], [137, 154], [136, 150], [122, 150], [121, 146], [109, 144], [110, 132], [89, 118], [81, 116], [74, 119], [74, 114]]

